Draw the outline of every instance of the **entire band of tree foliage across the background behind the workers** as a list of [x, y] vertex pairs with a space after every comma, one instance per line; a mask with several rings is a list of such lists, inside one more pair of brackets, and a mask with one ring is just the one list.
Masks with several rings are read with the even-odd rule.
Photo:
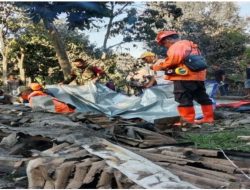
[[[13, 5], [24, 8], [36, 24], [31, 24]], [[248, 60], [249, 50], [245, 48], [248, 36], [243, 31], [245, 22], [232, 2], [17, 2], [8, 3], [8, 6], [13, 10], [8, 22], [5, 21], [8, 32], [4, 29], [5, 45], [10, 47], [8, 63], [14, 66], [23, 52], [26, 74], [32, 78], [52, 78], [52, 73], [57, 81], [61, 78], [55, 44], [47, 30], [51, 23], [66, 44], [65, 52], [70, 61], [83, 58], [102, 67], [109, 76], [103, 82], [112, 79], [121, 91], [128, 91], [124, 90], [130, 82], [127, 76], [133, 75], [140, 63], [128, 54], [111, 51], [102, 54], [105, 45], [104, 49], [96, 48], [83, 29], [104, 27], [106, 40], [122, 36], [122, 41], [114, 46], [145, 42], [147, 49], [162, 56], [166, 49], [155, 43], [157, 32], [176, 29], [182, 38], [199, 44], [209, 64], [222, 65], [227, 73], [241, 73]], [[104, 17], [107, 19], [101, 19]]]

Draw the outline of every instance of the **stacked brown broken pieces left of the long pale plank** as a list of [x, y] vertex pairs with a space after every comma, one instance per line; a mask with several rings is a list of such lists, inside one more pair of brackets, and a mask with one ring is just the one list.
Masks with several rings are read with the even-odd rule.
[[[42, 151], [28, 162], [28, 187], [39, 189], [134, 188], [138, 187], [101, 158], [68, 143]], [[79, 157], [79, 152], [81, 156]], [[138, 187], [140, 188], [140, 187]]]

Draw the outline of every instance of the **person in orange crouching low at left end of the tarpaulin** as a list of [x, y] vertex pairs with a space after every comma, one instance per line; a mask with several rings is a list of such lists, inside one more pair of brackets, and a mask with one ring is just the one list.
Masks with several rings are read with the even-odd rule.
[[[42, 87], [39, 84], [32, 83], [31, 87], [21, 86], [18, 88], [18, 96], [22, 98], [23, 101], [28, 101], [30, 107], [35, 108], [37, 105], [41, 104], [41, 108], [49, 112], [56, 113], [71, 113], [75, 111], [75, 108], [69, 104], [61, 102], [57, 98], [54, 98], [42, 91]], [[37, 99], [39, 97], [39, 99]], [[51, 104], [51, 106], [43, 107], [42, 103]], [[38, 106], [40, 107], [40, 106]]]

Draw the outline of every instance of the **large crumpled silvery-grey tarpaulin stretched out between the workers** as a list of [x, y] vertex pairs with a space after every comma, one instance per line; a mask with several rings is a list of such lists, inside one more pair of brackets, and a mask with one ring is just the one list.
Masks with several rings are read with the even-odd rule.
[[[89, 82], [84, 86], [49, 85], [47, 89], [61, 101], [70, 103], [79, 112], [104, 113], [123, 118], [155, 119], [177, 116], [177, 103], [173, 97], [173, 84], [146, 89], [142, 96], [126, 96], [104, 85]], [[207, 91], [211, 91], [208, 87]], [[197, 114], [201, 113], [196, 106]]]

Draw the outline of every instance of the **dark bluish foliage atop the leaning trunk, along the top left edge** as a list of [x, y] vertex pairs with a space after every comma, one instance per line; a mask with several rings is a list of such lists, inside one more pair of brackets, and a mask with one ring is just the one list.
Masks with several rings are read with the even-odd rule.
[[58, 19], [61, 13], [67, 14], [67, 21], [70, 28], [90, 28], [93, 18], [103, 18], [110, 14], [105, 2], [16, 2], [17, 6], [25, 9], [26, 13], [34, 23], [41, 20], [48, 23]]

